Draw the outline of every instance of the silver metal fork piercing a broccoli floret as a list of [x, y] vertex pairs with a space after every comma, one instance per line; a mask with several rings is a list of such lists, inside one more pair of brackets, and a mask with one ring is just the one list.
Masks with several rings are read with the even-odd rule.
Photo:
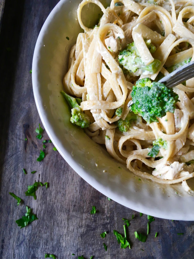
[[[164, 83], [168, 88], [172, 88], [188, 79], [191, 79], [192, 77], [194, 77], [194, 61], [177, 68], [172, 73], [162, 77], [158, 82]], [[127, 106], [130, 107], [132, 104], [133, 102], [131, 100]]]

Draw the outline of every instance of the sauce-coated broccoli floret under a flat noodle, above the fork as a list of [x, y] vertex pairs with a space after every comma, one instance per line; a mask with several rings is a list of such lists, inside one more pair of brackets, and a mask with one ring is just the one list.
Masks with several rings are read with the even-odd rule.
[[[151, 40], [145, 40], [145, 43], [150, 52], [153, 53], [156, 48], [151, 43]], [[154, 59], [149, 65], [144, 65], [134, 42], [128, 44], [123, 51], [120, 51], [118, 62], [120, 63], [123, 73], [132, 76], [154, 74], [161, 64], [160, 60]]]

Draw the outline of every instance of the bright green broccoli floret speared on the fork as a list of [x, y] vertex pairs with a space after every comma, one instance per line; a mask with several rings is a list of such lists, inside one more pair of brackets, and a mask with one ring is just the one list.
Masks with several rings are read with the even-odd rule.
[[143, 78], [133, 86], [131, 110], [139, 114], [147, 123], [158, 122], [158, 118], [167, 112], [174, 113], [178, 95], [171, 88], [159, 82], [151, 82], [150, 78]]

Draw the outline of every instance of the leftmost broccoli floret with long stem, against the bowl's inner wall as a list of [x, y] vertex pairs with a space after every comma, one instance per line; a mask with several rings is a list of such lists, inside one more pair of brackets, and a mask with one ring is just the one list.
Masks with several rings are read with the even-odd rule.
[[71, 107], [71, 123], [76, 124], [81, 128], [87, 128], [89, 126], [89, 117], [81, 111], [81, 108], [79, 106], [79, 104], [81, 103], [81, 99], [74, 98], [63, 91], [61, 91], [61, 94]]

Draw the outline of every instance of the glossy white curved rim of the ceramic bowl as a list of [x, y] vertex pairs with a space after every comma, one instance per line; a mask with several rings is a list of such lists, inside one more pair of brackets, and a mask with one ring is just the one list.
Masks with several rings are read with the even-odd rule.
[[[60, 0], [57, 3], [57, 5], [54, 7], [54, 9], [50, 12], [49, 16], [44, 22], [41, 28], [41, 31], [39, 33], [38, 39], [36, 41], [34, 55], [33, 55], [33, 62], [32, 62], [32, 85], [33, 85], [34, 99], [35, 99], [35, 103], [38, 109], [40, 119], [42, 121], [44, 129], [46, 130], [48, 136], [50, 137], [54, 146], [57, 148], [58, 152], [65, 159], [65, 161], [71, 166], [71, 168], [74, 171], [76, 171], [77, 174], [81, 176], [87, 183], [89, 183], [91, 186], [93, 186], [96, 190], [101, 192], [103, 195], [110, 197], [110, 199], [116, 201], [117, 203], [123, 206], [129, 207], [130, 209], [141, 212], [143, 214], [151, 214], [154, 217], [163, 218], [163, 219], [187, 220], [187, 221], [194, 220], [194, 216], [192, 213], [189, 213], [189, 209], [187, 212], [184, 212], [184, 213], [177, 213], [177, 212], [171, 213], [169, 217], [168, 209], [166, 210], [165, 208], [159, 209], [158, 207], [156, 208], [152, 207], [150, 209], [147, 207], [147, 205], [144, 204], [143, 201], [139, 202], [137, 200], [129, 200], [128, 197], [122, 197], [121, 199], [121, 196], [117, 195], [111, 189], [105, 189], [105, 186], [102, 183], [99, 183], [92, 175], [88, 174], [88, 172], [86, 172], [80, 164], [75, 163], [75, 160], [73, 159], [72, 155], [66, 150], [64, 146], [61, 145], [58, 139], [58, 136], [56, 135], [54, 129], [50, 125], [49, 119], [47, 118], [46, 111], [41, 102], [41, 94], [39, 91], [39, 80], [38, 80], [38, 60], [39, 60], [40, 48], [42, 47], [43, 37], [44, 37], [44, 34], [47, 32], [48, 25], [51, 23], [53, 17], [60, 10], [61, 6], [66, 2], [68, 2], [68, 0]], [[153, 198], [153, 197], [150, 197], [150, 198]], [[184, 202], [185, 198], [186, 200], [190, 199], [191, 202], [193, 202], [192, 197], [176, 197], [177, 202], [179, 202], [180, 199], [183, 199], [182, 202]], [[173, 204], [174, 199], [175, 197], [169, 197], [167, 203]], [[187, 215], [186, 218], [185, 218], [185, 213]]]

